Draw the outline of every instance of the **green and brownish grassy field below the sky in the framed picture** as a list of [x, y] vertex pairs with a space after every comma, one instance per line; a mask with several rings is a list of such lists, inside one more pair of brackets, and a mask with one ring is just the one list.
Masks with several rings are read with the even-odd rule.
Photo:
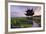
[[32, 24], [27, 24], [27, 23], [24, 23], [26, 22], [27, 20], [32, 20], [32, 21], [35, 21], [36, 23], [41, 23], [41, 17], [37, 17], [37, 16], [34, 16], [32, 18], [28, 18], [27, 17], [11, 17], [11, 24], [13, 26], [19, 26], [19, 27], [22, 27], [22, 28], [26, 28], [26, 27], [32, 27]]

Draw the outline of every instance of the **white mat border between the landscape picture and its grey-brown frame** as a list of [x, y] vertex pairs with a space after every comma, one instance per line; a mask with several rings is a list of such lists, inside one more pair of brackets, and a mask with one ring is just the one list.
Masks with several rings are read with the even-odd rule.
[[[11, 19], [10, 19], [10, 5], [22, 5], [22, 6], [41, 6], [41, 26], [35, 28], [20, 28], [20, 29], [11, 29]], [[18, 31], [35, 31], [43, 30], [43, 5], [42, 4], [26, 4], [26, 3], [8, 3], [8, 32], [18, 32]]]

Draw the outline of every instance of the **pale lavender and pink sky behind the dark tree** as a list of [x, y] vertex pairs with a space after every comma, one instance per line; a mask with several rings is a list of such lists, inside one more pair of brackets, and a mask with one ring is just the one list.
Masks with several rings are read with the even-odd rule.
[[25, 13], [27, 9], [32, 9], [34, 11], [34, 15], [41, 15], [41, 7], [40, 6], [18, 6], [18, 5], [11, 5], [10, 6], [10, 13], [11, 17], [26, 17]]

